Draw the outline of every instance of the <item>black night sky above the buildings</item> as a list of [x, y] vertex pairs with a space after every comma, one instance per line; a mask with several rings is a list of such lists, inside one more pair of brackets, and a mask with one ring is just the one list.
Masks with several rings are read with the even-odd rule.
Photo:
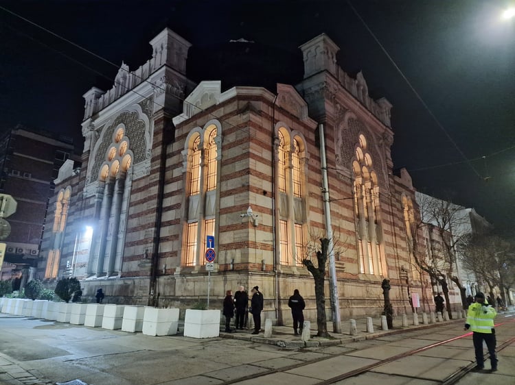
[[[339, 65], [363, 71], [371, 97], [393, 104], [394, 167], [417, 190], [514, 232], [515, 18], [500, 18], [509, 3], [0, 0], [0, 130], [20, 123], [82, 143], [84, 92], [111, 88], [122, 60], [131, 71], [144, 64], [148, 41], [166, 26], [192, 43], [189, 76], [221, 78], [222, 88], [234, 69], [223, 53], [242, 47], [229, 40], [253, 41], [263, 85], [296, 84], [297, 47], [325, 32], [341, 49]], [[240, 73], [239, 85], [255, 85], [253, 69]]]

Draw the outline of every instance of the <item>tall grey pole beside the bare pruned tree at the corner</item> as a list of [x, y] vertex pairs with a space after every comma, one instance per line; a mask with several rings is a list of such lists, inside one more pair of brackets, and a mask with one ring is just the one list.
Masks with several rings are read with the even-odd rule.
[[320, 158], [322, 166], [322, 194], [323, 194], [323, 210], [325, 212], [325, 234], [329, 240], [329, 286], [332, 312], [332, 331], [341, 333], [341, 317], [340, 317], [340, 301], [338, 298], [338, 281], [336, 280], [336, 264], [334, 263], [334, 243], [332, 236], [331, 224], [331, 206], [329, 200], [329, 184], [328, 184], [328, 165], [325, 159], [325, 136], [323, 134], [323, 124], [320, 124]]

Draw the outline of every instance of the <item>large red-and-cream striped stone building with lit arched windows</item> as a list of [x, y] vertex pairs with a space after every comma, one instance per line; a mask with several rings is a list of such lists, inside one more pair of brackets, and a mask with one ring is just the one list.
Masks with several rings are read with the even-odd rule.
[[380, 314], [385, 278], [396, 312], [413, 294], [426, 306], [431, 286], [409, 247], [415, 189], [407, 171], [393, 173], [391, 104], [343, 72], [328, 36], [301, 45], [304, 78], [275, 92], [195, 84], [190, 43], [170, 29], [150, 45], [152, 58], [122, 64], [111, 90], [84, 94], [82, 166], [56, 180], [39, 275], [78, 277], [85, 297], [102, 287], [106, 301], [187, 308], [207, 297], [214, 257], [211, 298], [258, 285], [281, 322], [298, 288], [313, 316], [301, 260], [326, 234], [323, 125], [342, 317]]

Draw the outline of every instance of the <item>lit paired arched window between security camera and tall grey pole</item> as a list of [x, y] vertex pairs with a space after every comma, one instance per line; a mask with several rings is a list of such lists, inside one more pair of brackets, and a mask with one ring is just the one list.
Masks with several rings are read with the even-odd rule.
[[304, 202], [304, 139], [290, 132], [286, 126], [277, 126], [276, 136], [277, 196], [279, 217], [280, 264], [297, 266], [305, 258], [306, 205]]

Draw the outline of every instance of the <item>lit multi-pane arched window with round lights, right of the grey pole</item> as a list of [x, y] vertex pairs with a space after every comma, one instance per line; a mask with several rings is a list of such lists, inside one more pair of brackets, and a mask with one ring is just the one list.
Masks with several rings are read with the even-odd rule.
[[354, 214], [360, 273], [382, 275], [385, 271], [380, 223], [378, 178], [364, 135], [358, 138], [354, 171]]

